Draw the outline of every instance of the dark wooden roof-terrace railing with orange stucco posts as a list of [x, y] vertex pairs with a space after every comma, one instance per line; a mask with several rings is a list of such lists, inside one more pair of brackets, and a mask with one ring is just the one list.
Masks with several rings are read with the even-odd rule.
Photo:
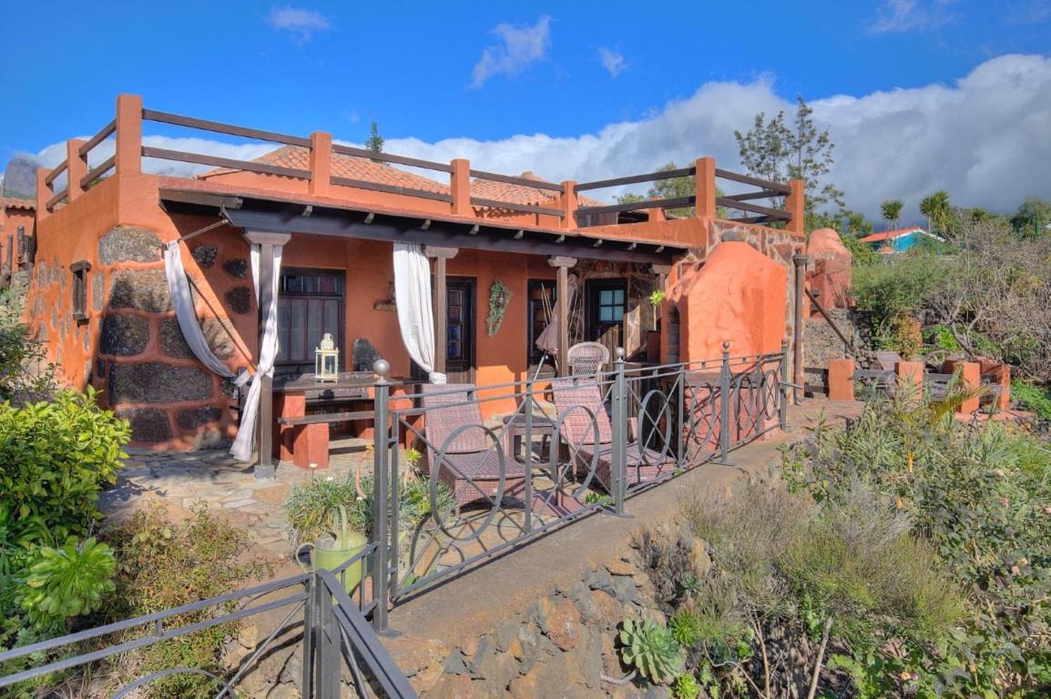
[[[151, 122], [168, 126], [197, 129], [220, 133], [228, 136], [250, 139], [277, 146], [294, 146], [308, 151], [309, 167], [306, 169], [288, 167], [257, 161], [247, 161], [232, 157], [222, 157], [206, 153], [194, 153], [168, 148], [157, 148], [143, 145], [143, 123]], [[88, 156], [103, 142], [112, 139], [114, 155], [88, 169]], [[50, 212], [56, 206], [67, 203], [79, 196], [84, 189], [102, 177], [115, 172], [117, 174], [139, 174], [142, 172], [143, 158], [156, 158], [189, 165], [226, 168], [234, 171], [256, 172], [261, 174], [279, 175], [306, 181], [309, 192], [317, 195], [339, 196], [339, 190], [333, 188], [353, 188], [373, 192], [382, 192], [399, 196], [427, 199], [448, 204], [450, 213], [454, 216], [476, 217], [478, 208], [535, 215], [536, 223], [541, 223], [541, 216], [555, 219], [559, 228], [575, 229], [581, 227], [582, 220], [592, 219], [595, 215], [619, 214], [630, 211], [650, 211], [663, 218], [663, 211], [668, 209], [693, 208], [696, 216], [716, 218], [719, 209], [729, 209], [743, 213], [743, 216], [731, 220], [741, 224], [778, 224], [789, 230], [803, 231], [803, 188], [802, 183], [778, 183], [750, 175], [730, 172], [715, 167], [715, 160], [703, 157], [694, 165], [675, 170], [659, 170], [643, 174], [598, 179], [594, 182], [560, 184], [533, 179], [528, 177], [507, 175], [471, 168], [467, 160], [457, 158], [451, 163], [439, 163], [417, 157], [396, 155], [392, 153], [374, 152], [364, 148], [333, 144], [332, 136], [323, 131], [315, 131], [307, 136], [289, 135], [276, 131], [248, 128], [214, 122], [192, 116], [185, 116], [154, 109], [144, 109], [142, 99], [137, 96], [122, 94], [117, 100], [117, 118], [106, 124], [98, 133], [86, 142], [67, 142], [66, 160], [49, 172], [41, 171], [38, 179], [38, 211]], [[362, 157], [370, 161], [430, 170], [448, 176], [448, 190], [445, 183], [438, 182], [434, 189], [424, 189], [412, 186], [398, 186], [369, 179], [352, 178], [333, 173], [333, 155]], [[65, 174], [64, 179], [62, 178]], [[655, 183], [677, 177], [694, 177], [696, 187], [688, 196], [665, 199], [645, 199], [601, 206], [579, 206], [580, 192], [622, 187], [640, 183]], [[717, 179], [726, 179], [737, 184], [758, 188], [757, 191], [735, 193], [719, 196]], [[499, 182], [527, 187], [532, 190], [550, 192], [551, 204], [543, 197], [538, 202], [523, 203], [472, 195], [472, 179]], [[62, 189], [57, 185], [65, 183]], [[783, 206], [764, 206], [755, 204], [758, 199], [783, 202]], [[616, 217], [614, 217], [616, 220]]]

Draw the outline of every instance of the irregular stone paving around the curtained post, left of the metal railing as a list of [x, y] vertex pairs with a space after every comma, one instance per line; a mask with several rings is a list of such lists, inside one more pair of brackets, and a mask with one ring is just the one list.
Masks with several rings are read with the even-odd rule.
[[222, 509], [245, 526], [254, 544], [267, 553], [288, 559], [292, 548], [282, 505], [289, 488], [311, 478], [360, 478], [372, 472], [366, 441], [333, 440], [331, 465], [316, 472], [281, 465], [276, 478], [256, 479], [252, 465], [236, 461], [225, 449], [208, 451], [150, 451], [127, 449], [117, 485], [106, 490], [100, 505], [111, 520], [160, 503], [173, 516], [180, 510], [207, 505]]

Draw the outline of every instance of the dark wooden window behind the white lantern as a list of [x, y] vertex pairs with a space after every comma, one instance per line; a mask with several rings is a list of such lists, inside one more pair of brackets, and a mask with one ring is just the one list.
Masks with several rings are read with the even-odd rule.
[[[280, 373], [312, 373], [314, 350], [325, 333], [332, 336], [343, 354], [346, 347], [345, 289], [346, 277], [342, 271], [282, 270], [275, 361]], [[350, 360], [350, 357], [341, 356], [339, 368], [348, 370]]]

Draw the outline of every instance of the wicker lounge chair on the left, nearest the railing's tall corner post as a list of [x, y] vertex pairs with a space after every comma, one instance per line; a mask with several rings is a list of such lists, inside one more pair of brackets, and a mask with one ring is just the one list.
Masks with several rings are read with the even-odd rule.
[[[438, 480], [449, 487], [457, 507], [475, 501], [493, 502], [498, 494], [501, 468], [503, 497], [520, 496], [526, 484], [526, 466], [508, 448], [508, 430], [494, 428], [503, 447], [500, 463], [493, 438], [482, 427], [485, 420], [474, 391], [473, 383], [423, 385], [428, 459], [433, 465], [438, 450], [446, 447]], [[453, 432], [468, 425], [475, 427], [467, 427], [446, 444]]]

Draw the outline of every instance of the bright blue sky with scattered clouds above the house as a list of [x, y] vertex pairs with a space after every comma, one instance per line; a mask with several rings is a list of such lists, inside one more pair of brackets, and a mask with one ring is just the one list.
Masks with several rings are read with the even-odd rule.
[[[458, 146], [488, 167], [536, 169], [553, 178], [586, 168], [596, 176], [622, 174], [613, 170], [709, 153], [733, 160], [734, 128], [746, 128], [759, 109], [787, 106], [797, 93], [816, 102], [832, 129], [838, 168], [850, 165], [842, 163], [847, 139], [869, 137], [861, 126], [874, 128], [873, 140], [894, 133], [881, 111], [923, 111], [925, 100], [963, 90], [961, 81], [989, 66], [996, 68], [985, 80], [990, 91], [972, 94], [972, 102], [1005, 99], [996, 85], [1017, 83], [1021, 71], [1033, 82], [1018, 89], [1037, 100], [1023, 113], [1051, 104], [1044, 76], [1051, 73], [1051, 0], [296, 0], [183, 2], [176, 10], [170, 3], [5, 0], [2, 16], [24, 30], [4, 38], [8, 100], [0, 110], [0, 164], [20, 152], [46, 162], [49, 146], [107, 122], [121, 91], [142, 94], [157, 109], [288, 133], [329, 130], [352, 142], [366, 137], [375, 119], [392, 152], [399, 145], [445, 157], [461, 154], [452, 152]], [[1003, 57], [1016, 60], [1007, 65]], [[952, 104], [940, 107], [943, 119]], [[689, 110], [698, 113], [679, 114]], [[1045, 116], [1042, 123], [1037, 113], [1027, 137], [1038, 139], [1043, 129], [1051, 141], [1051, 110]], [[972, 128], [982, 131], [984, 123]], [[618, 125], [634, 125], [628, 130], [646, 137], [611, 139]], [[925, 122], [921, 131], [935, 133], [939, 126]], [[564, 162], [541, 152], [551, 144], [538, 135], [554, 140]], [[944, 143], [931, 144], [923, 157], [950, 166], [952, 153], [939, 149], [959, 146], [960, 137], [968, 132], [939, 139]], [[1034, 153], [1028, 143], [1010, 148], [1019, 157]], [[872, 206], [870, 183], [841, 173], [841, 186], [859, 190], [845, 187], [848, 198], [859, 197], [858, 208]], [[1043, 192], [1026, 193], [1051, 194], [1048, 179]], [[940, 178], [930, 167], [887, 182], [878, 194], [908, 198], [940, 182], [981, 198], [981, 183]], [[1006, 197], [1005, 191], [973, 204], [1006, 208]]]

